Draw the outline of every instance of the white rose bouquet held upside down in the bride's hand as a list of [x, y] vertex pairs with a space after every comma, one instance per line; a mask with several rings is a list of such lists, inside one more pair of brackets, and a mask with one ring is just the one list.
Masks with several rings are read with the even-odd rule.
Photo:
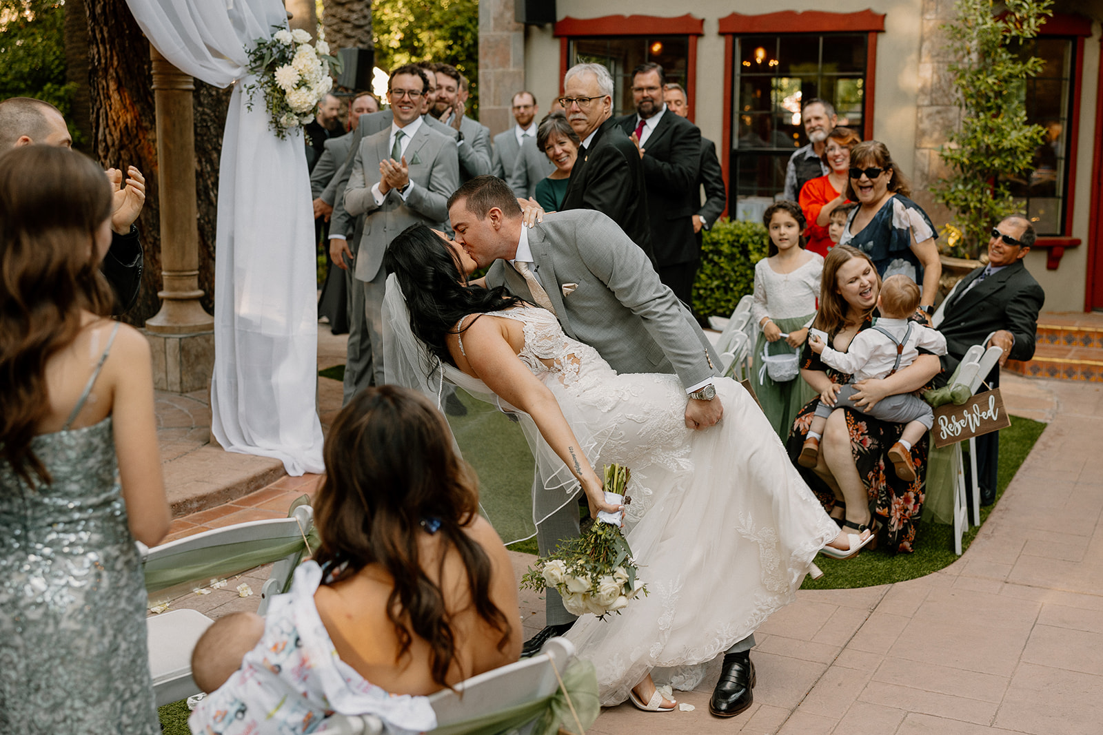
[[[606, 465], [606, 500], [620, 502], [632, 472]], [[627, 502], [627, 501], [625, 501]], [[621, 514], [601, 512], [586, 533], [559, 544], [555, 552], [536, 560], [535, 569], [521, 580], [522, 590], [552, 587], [563, 595], [571, 615], [593, 613], [604, 619], [647, 588], [636, 579], [635, 560], [620, 530]]]

